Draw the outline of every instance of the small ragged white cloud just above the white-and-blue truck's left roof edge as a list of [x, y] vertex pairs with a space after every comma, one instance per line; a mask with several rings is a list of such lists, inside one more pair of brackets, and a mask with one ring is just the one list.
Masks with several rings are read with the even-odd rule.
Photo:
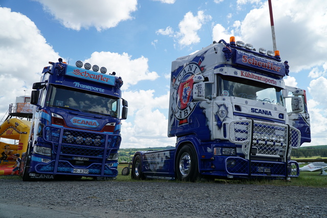
[[175, 32], [171, 27], [167, 27], [165, 30], [157, 30], [156, 33], [173, 37], [181, 47], [190, 46], [200, 42], [198, 31], [202, 25], [211, 19], [212, 17], [205, 15], [203, 11], [198, 11], [196, 16], [192, 12], [188, 12], [184, 15], [183, 20], [179, 22], [178, 32]]

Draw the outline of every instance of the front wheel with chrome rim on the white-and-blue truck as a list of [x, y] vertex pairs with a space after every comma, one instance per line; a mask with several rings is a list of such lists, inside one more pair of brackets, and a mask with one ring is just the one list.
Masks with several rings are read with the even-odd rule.
[[175, 172], [180, 181], [194, 182], [199, 177], [198, 158], [191, 144], [186, 144], [178, 152]]

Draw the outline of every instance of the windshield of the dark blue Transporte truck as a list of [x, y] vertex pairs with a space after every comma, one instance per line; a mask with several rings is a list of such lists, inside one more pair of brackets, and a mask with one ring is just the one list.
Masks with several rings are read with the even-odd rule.
[[112, 96], [55, 85], [48, 92], [45, 106], [119, 117], [119, 99]]

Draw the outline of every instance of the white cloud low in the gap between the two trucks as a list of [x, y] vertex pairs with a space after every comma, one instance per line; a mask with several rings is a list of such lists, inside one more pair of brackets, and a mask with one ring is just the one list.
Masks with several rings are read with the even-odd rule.
[[[169, 93], [154, 97], [154, 90], [125, 91], [128, 96], [128, 117], [122, 125], [121, 148], [149, 148], [173, 146], [175, 138], [168, 138], [168, 119], [160, 109], [168, 109]], [[133, 123], [128, 123], [133, 119]]]

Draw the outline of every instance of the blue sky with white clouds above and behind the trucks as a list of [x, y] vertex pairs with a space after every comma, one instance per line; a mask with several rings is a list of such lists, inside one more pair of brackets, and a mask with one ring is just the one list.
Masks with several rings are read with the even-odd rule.
[[[327, 144], [327, 1], [271, 2], [285, 83], [307, 91], [312, 141], [302, 146]], [[49, 61], [81, 60], [124, 81], [125, 149], [175, 146], [172, 61], [230, 36], [273, 50], [267, 0], [0, 0], [0, 29], [0, 119]]]

